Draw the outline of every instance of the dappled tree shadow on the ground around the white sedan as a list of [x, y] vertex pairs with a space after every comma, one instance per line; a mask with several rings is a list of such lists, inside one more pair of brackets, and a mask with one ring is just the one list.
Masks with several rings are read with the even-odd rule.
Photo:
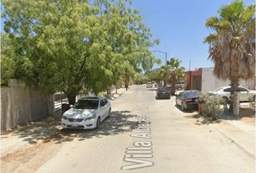
[[54, 117], [48, 117], [43, 121], [17, 128], [11, 133], [12, 136], [23, 138], [23, 141], [31, 144], [37, 143], [38, 141], [42, 141], [43, 143], [49, 141], [62, 143], [64, 141], [73, 141], [74, 139], [83, 141], [89, 138], [103, 138], [104, 136], [114, 136], [132, 131], [132, 129], [137, 128], [137, 121], [130, 120], [132, 117], [137, 117], [137, 115], [132, 115], [126, 110], [114, 111], [111, 112], [111, 117], [106, 118], [101, 123], [100, 128], [82, 130], [57, 128], [60, 125], [61, 115], [56, 115]]

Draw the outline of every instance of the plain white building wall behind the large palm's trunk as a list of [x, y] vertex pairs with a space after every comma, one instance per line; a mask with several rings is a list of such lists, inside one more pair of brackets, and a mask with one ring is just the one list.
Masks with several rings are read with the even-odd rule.
[[[230, 81], [223, 81], [213, 75], [213, 67], [202, 68], [202, 92], [209, 92], [221, 86], [229, 86]], [[248, 89], [255, 89], [254, 79], [240, 81], [240, 86]]]

